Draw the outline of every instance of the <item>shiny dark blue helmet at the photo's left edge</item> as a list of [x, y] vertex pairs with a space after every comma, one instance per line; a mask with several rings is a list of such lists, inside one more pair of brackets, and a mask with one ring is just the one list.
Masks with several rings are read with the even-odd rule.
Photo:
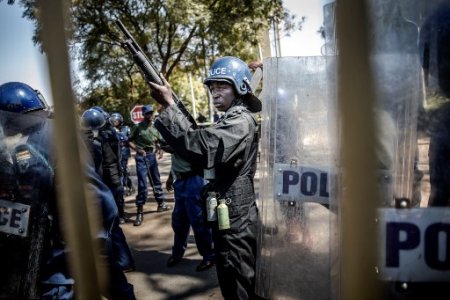
[[0, 85], [0, 110], [28, 113], [48, 110], [42, 94], [22, 82], [7, 82]]

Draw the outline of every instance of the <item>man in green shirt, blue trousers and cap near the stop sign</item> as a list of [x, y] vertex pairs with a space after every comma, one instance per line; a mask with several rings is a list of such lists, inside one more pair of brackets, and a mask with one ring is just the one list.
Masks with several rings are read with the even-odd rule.
[[134, 226], [140, 226], [144, 220], [143, 206], [147, 202], [147, 177], [158, 203], [157, 212], [170, 210], [171, 207], [165, 203], [161, 179], [158, 170], [158, 159], [162, 157], [160, 149], [160, 135], [153, 126], [153, 106], [145, 105], [142, 108], [144, 121], [137, 124], [131, 131], [128, 143], [136, 151], [136, 173], [138, 178], [138, 194], [136, 196], [137, 215]]

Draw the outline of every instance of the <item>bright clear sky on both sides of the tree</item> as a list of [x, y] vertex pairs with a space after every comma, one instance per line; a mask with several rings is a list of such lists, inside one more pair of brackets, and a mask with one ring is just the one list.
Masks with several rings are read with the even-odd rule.
[[[0, 84], [8, 81], [27, 83], [38, 89], [51, 105], [47, 60], [31, 40], [33, 24], [22, 18], [22, 7], [6, 2], [0, 2]], [[323, 23], [322, 5], [325, 2], [330, 0], [284, 0], [291, 13], [299, 18], [306, 16], [306, 22], [301, 31], [282, 38], [282, 56], [320, 55], [323, 40], [317, 30]]]

